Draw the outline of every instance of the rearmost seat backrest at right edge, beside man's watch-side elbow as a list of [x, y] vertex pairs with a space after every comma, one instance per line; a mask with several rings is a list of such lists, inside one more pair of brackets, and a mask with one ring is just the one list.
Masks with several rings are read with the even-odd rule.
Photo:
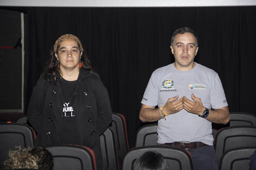
[[230, 126], [256, 126], [256, 115], [245, 112], [230, 112], [230, 121], [228, 124], [212, 124], [213, 137], [215, 137], [218, 129]]

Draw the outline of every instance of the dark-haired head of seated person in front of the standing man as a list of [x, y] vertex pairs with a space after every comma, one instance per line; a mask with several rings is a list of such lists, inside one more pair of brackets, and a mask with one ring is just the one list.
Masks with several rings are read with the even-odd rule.
[[167, 170], [168, 165], [166, 160], [158, 152], [144, 152], [134, 162], [134, 170]]

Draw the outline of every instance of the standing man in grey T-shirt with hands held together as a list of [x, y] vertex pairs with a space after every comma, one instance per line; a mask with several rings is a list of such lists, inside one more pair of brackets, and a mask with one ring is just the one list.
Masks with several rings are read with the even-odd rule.
[[215, 71], [194, 62], [199, 47], [191, 28], [177, 29], [170, 47], [175, 63], [152, 73], [139, 118], [142, 122], [158, 121], [158, 145], [187, 149], [195, 170], [218, 169], [212, 122], [229, 122], [220, 78]]

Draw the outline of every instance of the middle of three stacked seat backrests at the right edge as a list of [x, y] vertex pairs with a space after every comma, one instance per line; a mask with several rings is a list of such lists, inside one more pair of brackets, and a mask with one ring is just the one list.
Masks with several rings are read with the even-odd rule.
[[239, 147], [256, 147], [256, 127], [232, 126], [217, 131], [214, 141], [216, 159], [220, 159], [224, 152]]

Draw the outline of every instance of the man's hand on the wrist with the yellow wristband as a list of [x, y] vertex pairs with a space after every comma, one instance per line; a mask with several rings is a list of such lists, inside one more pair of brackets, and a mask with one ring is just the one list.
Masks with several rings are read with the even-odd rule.
[[163, 107], [163, 111], [166, 114], [174, 114], [183, 109], [183, 97], [177, 100], [179, 96], [172, 97], [167, 100], [166, 104]]

